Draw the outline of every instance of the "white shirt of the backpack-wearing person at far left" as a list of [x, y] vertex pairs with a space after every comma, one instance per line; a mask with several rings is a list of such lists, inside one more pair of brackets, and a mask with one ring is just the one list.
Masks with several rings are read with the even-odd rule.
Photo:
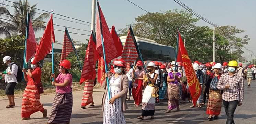
[[[13, 63], [14, 62], [10, 63], [8, 65], [7, 69], [5, 70], [6, 72], [11, 73], [11, 75], [5, 74], [5, 76], [4, 76], [4, 80], [7, 83], [10, 83], [10, 82], [18, 83], [17, 79], [16, 79], [16, 76], [15, 76], [15, 75], [17, 75], [17, 72], [18, 72], [18, 66], [16, 64], [13, 64]], [[13, 64], [13, 65], [11, 66], [11, 64]], [[11, 66], [11, 68], [10, 68], [10, 66]]]

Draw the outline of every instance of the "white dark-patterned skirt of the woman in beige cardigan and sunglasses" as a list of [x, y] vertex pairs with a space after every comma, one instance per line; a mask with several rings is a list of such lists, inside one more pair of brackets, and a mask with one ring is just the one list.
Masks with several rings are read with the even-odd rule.
[[[110, 88], [109, 90], [111, 92], [111, 97], [114, 97], [120, 92], [120, 90], [117, 90], [114, 87]], [[111, 105], [109, 104], [108, 92], [104, 104], [103, 124], [126, 124], [124, 113], [122, 111], [122, 99], [116, 99], [115, 102]]]

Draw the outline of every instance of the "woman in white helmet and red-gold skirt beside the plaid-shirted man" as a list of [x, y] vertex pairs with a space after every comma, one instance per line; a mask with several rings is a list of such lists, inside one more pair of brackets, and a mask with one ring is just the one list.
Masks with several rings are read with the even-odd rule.
[[214, 76], [212, 79], [212, 82], [210, 84], [210, 91], [209, 91], [209, 99], [208, 99], [208, 105], [206, 109], [206, 114], [208, 114], [208, 120], [212, 121], [213, 120], [213, 115], [214, 119], [219, 118], [219, 114], [221, 112], [221, 107], [222, 107], [222, 93], [221, 90], [217, 89], [217, 83], [221, 77], [221, 70], [222, 66], [221, 63], [217, 63], [214, 65]]

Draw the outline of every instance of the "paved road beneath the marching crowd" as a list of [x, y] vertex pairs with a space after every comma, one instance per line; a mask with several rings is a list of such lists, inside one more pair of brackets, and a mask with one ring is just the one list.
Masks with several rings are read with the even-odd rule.
[[[247, 84], [247, 82], [245, 81]], [[256, 124], [256, 82], [252, 82], [251, 88], [245, 88], [245, 98], [242, 106], [239, 106], [235, 113], [236, 124]], [[93, 92], [93, 99], [96, 106], [80, 109], [82, 91], [73, 93], [73, 110], [71, 124], [102, 124], [103, 114], [101, 112], [101, 98], [103, 90], [96, 89]], [[41, 102], [48, 110], [51, 111], [52, 100], [54, 94], [43, 95]], [[6, 109], [7, 100], [0, 100], [0, 123], [1, 124], [46, 124], [47, 119], [42, 118], [40, 112], [31, 115], [31, 120], [20, 121], [21, 117], [21, 98], [16, 99], [16, 107]], [[125, 113], [127, 124], [225, 124], [226, 115], [224, 109], [221, 110], [220, 118], [214, 121], [208, 121], [205, 114], [206, 107], [189, 108], [191, 103], [181, 104], [179, 112], [164, 113], [167, 109], [167, 102], [163, 102], [156, 106], [155, 120], [145, 117], [144, 121], [137, 120], [137, 116], [141, 113], [141, 108], [135, 108], [133, 101], [128, 101], [129, 109]]]

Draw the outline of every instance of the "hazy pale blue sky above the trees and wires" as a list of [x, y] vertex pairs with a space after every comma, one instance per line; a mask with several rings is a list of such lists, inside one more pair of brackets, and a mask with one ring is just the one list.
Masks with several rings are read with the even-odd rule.
[[[11, 0], [13, 1], [13, 0]], [[183, 9], [173, 0], [130, 0], [141, 6], [143, 9], [149, 12], [159, 12], [161, 10], [170, 9]], [[249, 35], [251, 40], [249, 41], [249, 50], [253, 50], [256, 55], [256, 0], [181, 0], [187, 6], [208, 18], [212, 22], [218, 25], [231, 25], [236, 26], [239, 29], [246, 30], [238, 36], [245, 34]], [[91, 0], [30, 0], [31, 4], [38, 4], [37, 8], [42, 10], [54, 10], [54, 13], [62, 14], [72, 18], [77, 18], [87, 22], [91, 22]], [[99, 0], [101, 9], [104, 13], [108, 26], [114, 25], [116, 29], [124, 28], [131, 22], [134, 22], [134, 18], [138, 15], [145, 14], [146, 12], [132, 5], [126, 0]], [[6, 2], [7, 3], [7, 2]], [[12, 5], [11, 3], [9, 3]], [[37, 12], [42, 13], [38, 10]], [[54, 15], [56, 17], [60, 17]], [[64, 18], [64, 17], [60, 17]], [[67, 18], [65, 18], [67, 19]], [[48, 20], [45, 20], [46, 22]], [[75, 21], [75, 20], [72, 20]], [[54, 18], [54, 24], [64, 25], [69, 27], [75, 27], [83, 30], [90, 30], [90, 26], [80, 25], [72, 22], [67, 22]], [[78, 21], [77, 21], [78, 22]], [[84, 23], [84, 22], [81, 22]], [[86, 24], [86, 23], [85, 23]], [[198, 26], [210, 26], [204, 21], [199, 21]], [[210, 26], [213, 28], [213, 26]], [[64, 27], [55, 26], [55, 29], [64, 30]], [[70, 32], [76, 32], [81, 34], [90, 34], [89, 32], [68, 29]], [[43, 31], [36, 33], [36, 37], [42, 36]], [[55, 31], [56, 40], [62, 42], [64, 33]], [[75, 40], [85, 41], [89, 36], [70, 34]], [[247, 46], [247, 45], [245, 45]], [[248, 55], [245, 51], [244, 56]]]

